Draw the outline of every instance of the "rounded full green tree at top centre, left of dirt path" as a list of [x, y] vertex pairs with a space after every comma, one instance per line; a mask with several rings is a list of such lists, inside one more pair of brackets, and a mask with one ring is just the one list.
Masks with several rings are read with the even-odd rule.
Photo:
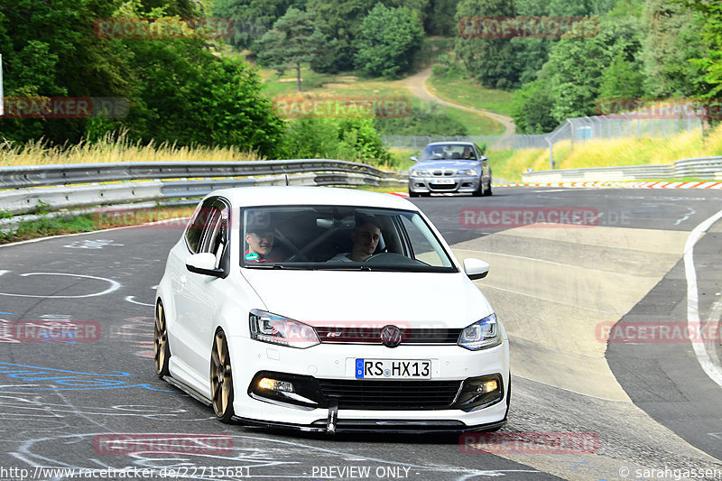
[[367, 75], [393, 76], [409, 69], [423, 39], [421, 21], [405, 8], [377, 4], [361, 23], [355, 62]]

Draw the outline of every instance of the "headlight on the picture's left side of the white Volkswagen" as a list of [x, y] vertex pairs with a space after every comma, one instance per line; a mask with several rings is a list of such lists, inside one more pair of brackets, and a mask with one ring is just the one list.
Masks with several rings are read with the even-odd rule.
[[254, 309], [249, 313], [248, 321], [251, 338], [257, 341], [300, 349], [320, 344], [316, 329], [298, 320]]

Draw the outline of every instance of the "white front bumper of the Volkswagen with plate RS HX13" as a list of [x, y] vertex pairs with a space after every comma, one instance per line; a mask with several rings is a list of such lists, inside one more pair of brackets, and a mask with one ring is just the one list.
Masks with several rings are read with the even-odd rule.
[[[469, 351], [458, 346], [383, 346], [321, 344], [309, 349], [277, 347], [248, 338], [234, 338], [231, 343], [234, 381], [234, 411], [236, 420], [245, 424], [324, 432], [384, 431], [384, 432], [466, 432], [490, 430], [506, 421], [509, 386], [508, 342], [481, 351]], [[236, 347], [235, 349], [233, 347]], [[237, 347], [241, 347], [240, 349]], [[323, 397], [318, 406], [299, 405], [277, 397], [263, 397], [252, 386], [259, 373], [293, 380], [319, 380], [331, 383], [357, 383], [356, 358], [365, 359], [430, 359], [431, 382], [456, 382], [457, 398], [468, 388], [468, 379], [498, 375], [498, 399], [470, 409], [434, 409], [404, 406], [403, 409], [375, 406], [344, 408], [344, 394], [340, 398]], [[270, 374], [269, 374], [270, 373]], [[380, 383], [413, 383], [407, 380], [374, 380]], [[360, 384], [359, 384], [360, 385]], [[390, 386], [392, 384], [389, 384]], [[466, 387], [465, 387], [466, 386]], [[303, 393], [304, 399], [314, 396]], [[383, 395], [383, 392], [382, 392]], [[319, 401], [317, 397], [313, 401]]]

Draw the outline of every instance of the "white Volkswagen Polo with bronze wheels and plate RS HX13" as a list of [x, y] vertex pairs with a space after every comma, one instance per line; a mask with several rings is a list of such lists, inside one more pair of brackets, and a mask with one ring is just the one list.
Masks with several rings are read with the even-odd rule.
[[427, 217], [392, 195], [217, 190], [158, 286], [158, 375], [220, 421], [311, 431], [497, 430], [509, 342]]

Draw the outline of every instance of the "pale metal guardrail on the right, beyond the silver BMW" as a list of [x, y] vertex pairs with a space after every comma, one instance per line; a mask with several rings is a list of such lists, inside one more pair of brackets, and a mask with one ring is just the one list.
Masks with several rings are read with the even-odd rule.
[[681, 179], [722, 180], [722, 157], [683, 159], [667, 165], [631, 165], [524, 172], [524, 182], [564, 182], [592, 180]]

